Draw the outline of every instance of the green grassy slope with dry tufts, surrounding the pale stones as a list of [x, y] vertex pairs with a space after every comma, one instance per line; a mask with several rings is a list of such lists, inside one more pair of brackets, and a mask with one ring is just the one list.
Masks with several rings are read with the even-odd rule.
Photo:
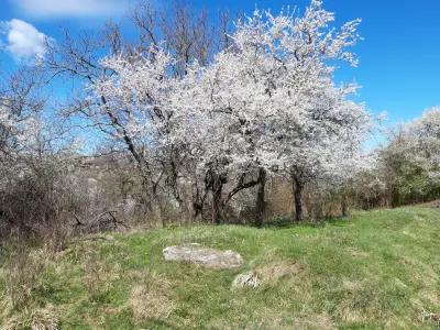
[[[163, 260], [165, 246], [191, 242], [234, 250], [245, 264], [216, 271]], [[109, 234], [56, 255], [3, 252], [0, 311], [10, 328], [432, 329], [439, 252], [440, 210], [429, 207], [358, 212], [322, 226]], [[231, 289], [246, 271], [262, 285]]]

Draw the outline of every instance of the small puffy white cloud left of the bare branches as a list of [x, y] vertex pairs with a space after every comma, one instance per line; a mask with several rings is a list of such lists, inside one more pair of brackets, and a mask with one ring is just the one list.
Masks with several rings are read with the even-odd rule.
[[3, 23], [7, 34], [6, 48], [18, 59], [42, 57], [47, 36], [30, 23], [13, 19]]

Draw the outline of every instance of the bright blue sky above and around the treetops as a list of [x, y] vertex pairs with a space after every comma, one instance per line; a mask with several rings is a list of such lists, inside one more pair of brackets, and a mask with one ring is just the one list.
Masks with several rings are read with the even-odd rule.
[[[61, 28], [74, 31], [97, 30], [106, 20], [120, 20], [133, 0], [0, 0], [0, 35], [8, 46], [4, 31], [12, 19], [32, 24], [37, 32], [57, 40]], [[163, 0], [156, 6], [163, 6]], [[81, 6], [86, 3], [87, 6]], [[196, 10], [207, 8], [252, 12], [255, 6], [278, 11], [283, 7], [304, 9], [307, 0], [194, 0]], [[389, 123], [419, 117], [424, 109], [440, 105], [440, 1], [438, 0], [324, 0], [336, 12], [337, 24], [362, 19], [364, 37], [356, 47], [358, 68], [341, 68], [338, 80], [356, 81], [362, 86], [358, 100], [380, 113], [388, 113]], [[29, 28], [29, 26], [28, 26]], [[28, 31], [28, 30], [26, 30]], [[37, 37], [37, 34], [34, 37]], [[19, 51], [25, 52], [19, 47]], [[16, 57], [16, 56], [15, 56]], [[11, 52], [0, 55], [4, 66], [13, 67]]]

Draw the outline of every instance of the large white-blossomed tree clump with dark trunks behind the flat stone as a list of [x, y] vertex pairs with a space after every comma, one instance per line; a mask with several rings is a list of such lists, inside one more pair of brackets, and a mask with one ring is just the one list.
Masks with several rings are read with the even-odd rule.
[[318, 0], [302, 15], [255, 11], [209, 65], [188, 63], [179, 76], [172, 70], [178, 59], [160, 45], [108, 57], [102, 65], [114, 75], [92, 86], [106, 100], [96, 118], [106, 114], [114, 138], [142, 145], [146, 168], [166, 163], [175, 186], [188, 177], [177, 164], [189, 162], [193, 179], [211, 191], [215, 223], [235, 194], [253, 186], [261, 223], [267, 173], [292, 179], [300, 220], [308, 182], [342, 178], [337, 164], [352, 173], [362, 164], [370, 123], [363, 106], [349, 100], [356, 87], [337, 86], [332, 76], [337, 61], [356, 65], [346, 48], [359, 38], [359, 21], [336, 30], [333, 20]]

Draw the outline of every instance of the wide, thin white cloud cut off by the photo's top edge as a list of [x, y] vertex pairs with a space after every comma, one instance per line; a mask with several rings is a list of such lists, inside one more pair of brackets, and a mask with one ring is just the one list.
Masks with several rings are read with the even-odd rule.
[[123, 14], [130, 0], [15, 0], [18, 9], [34, 18], [85, 18]]

